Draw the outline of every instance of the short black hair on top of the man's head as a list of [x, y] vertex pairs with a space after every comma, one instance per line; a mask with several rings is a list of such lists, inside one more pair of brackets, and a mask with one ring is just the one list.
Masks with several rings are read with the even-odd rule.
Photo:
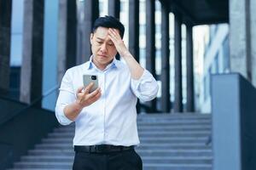
[[124, 37], [125, 33], [125, 26], [113, 16], [105, 15], [104, 17], [99, 17], [94, 22], [91, 32], [95, 32], [98, 27], [105, 27], [105, 28], [115, 28], [119, 30], [120, 37]]

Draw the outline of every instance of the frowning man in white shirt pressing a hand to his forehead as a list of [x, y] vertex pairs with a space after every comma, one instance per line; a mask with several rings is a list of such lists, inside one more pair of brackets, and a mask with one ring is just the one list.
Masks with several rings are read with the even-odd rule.
[[[125, 27], [112, 16], [100, 17], [90, 34], [92, 55], [68, 69], [60, 88], [55, 115], [62, 125], [75, 122], [74, 170], [135, 170], [143, 162], [134, 150], [137, 98], [154, 99], [158, 85], [139, 65], [122, 40]], [[125, 63], [115, 59], [119, 53]], [[83, 75], [97, 75], [99, 88], [83, 86]]]

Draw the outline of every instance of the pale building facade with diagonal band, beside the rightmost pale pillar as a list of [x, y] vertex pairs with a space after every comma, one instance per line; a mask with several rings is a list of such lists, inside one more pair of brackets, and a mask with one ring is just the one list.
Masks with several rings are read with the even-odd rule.
[[229, 26], [227, 24], [209, 26], [209, 38], [207, 39], [200, 98], [201, 112], [204, 113], [212, 111], [211, 76], [230, 72]]

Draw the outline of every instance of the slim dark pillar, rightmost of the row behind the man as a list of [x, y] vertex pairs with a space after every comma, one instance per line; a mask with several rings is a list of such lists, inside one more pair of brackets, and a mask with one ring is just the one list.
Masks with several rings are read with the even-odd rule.
[[187, 25], [187, 111], [195, 111], [193, 27]]

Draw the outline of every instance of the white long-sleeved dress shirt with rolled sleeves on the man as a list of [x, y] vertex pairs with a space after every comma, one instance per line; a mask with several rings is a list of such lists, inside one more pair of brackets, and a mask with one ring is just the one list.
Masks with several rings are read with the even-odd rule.
[[158, 85], [147, 70], [138, 80], [131, 78], [125, 63], [113, 59], [104, 71], [91, 61], [68, 69], [62, 79], [55, 116], [62, 125], [72, 121], [64, 114], [66, 105], [76, 99], [77, 89], [83, 86], [83, 75], [97, 75], [102, 96], [84, 107], [75, 119], [73, 145], [113, 144], [137, 145], [137, 98], [148, 101], [156, 97]]

